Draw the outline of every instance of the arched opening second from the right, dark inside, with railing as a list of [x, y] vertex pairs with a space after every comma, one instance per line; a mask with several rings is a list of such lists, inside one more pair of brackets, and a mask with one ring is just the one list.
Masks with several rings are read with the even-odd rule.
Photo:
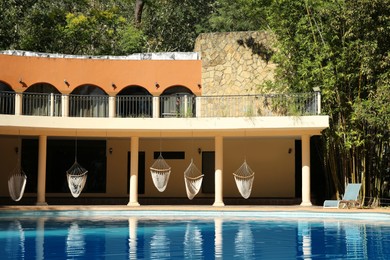
[[116, 97], [118, 117], [152, 117], [153, 96], [140, 86], [128, 86]]

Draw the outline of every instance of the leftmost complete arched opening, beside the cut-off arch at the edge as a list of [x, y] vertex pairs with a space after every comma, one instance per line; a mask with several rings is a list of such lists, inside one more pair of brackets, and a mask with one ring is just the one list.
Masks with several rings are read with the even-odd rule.
[[60, 116], [61, 93], [49, 83], [36, 83], [23, 92], [23, 115]]

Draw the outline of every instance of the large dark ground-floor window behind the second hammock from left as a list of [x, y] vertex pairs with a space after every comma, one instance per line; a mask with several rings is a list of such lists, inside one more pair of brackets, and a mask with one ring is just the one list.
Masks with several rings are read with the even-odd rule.
[[[46, 192], [70, 192], [66, 171], [75, 161], [75, 140], [48, 140], [46, 161]], [[38, 140], [23, 139], [22, 167], [27, 175], [26, 192], [37, 191]], [[77, 162], [88, 170], [83, 192], [106, 192], [106, 141], [78, 140]]]

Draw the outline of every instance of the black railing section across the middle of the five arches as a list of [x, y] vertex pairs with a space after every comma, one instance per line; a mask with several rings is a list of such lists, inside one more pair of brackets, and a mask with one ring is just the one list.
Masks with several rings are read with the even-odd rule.
[[69, 95], [69, 116], [108, 117], [108, 96]]

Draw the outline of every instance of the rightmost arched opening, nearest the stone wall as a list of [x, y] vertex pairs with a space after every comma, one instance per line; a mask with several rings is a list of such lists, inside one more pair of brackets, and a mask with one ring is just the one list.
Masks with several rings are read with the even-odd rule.
[[195, 98], [184, 86], [167, 88], [160, 96], [160, 117], [195, 117]]

